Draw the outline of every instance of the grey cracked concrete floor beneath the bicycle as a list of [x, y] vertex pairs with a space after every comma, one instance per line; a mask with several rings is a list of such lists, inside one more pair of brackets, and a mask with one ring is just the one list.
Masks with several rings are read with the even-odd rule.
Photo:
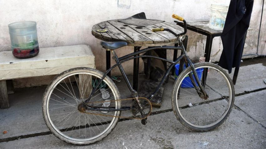
[[[244, 60], [235, 85], [235, 106], [212, 131], [190, 131], [176, 120], [171, 111], [174, 81], [169, 80], [161, 108], [153, 108], [160, 112], [149, 116], [147, 125], [120, 121], [109, 136], [88, 146], [65, 143], [49, 132], [42, 116], [45, 86], [17, 89], [9, 95], [10, 108], [0, 109], [0, 148], [266, 148], [265, 63], [266, 58]], [[130, 95], [124, 81], [117, 86], [122, 96]]]

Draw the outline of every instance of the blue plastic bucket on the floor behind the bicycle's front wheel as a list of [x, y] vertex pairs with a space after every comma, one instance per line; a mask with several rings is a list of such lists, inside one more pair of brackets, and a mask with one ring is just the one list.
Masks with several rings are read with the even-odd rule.
[[[175, 65], [175, 68], [176, 68], [175, 77], [177, 78], [178, 71], [179, 71], [179, 64], [176, 64]], [[185, 65], [184, 65], [184, 69], [186, 69], [186, 66]], [[201, 76], [202, 76], [202, 73], [203, 73], [203, 68], [197, 69], [196, 72], [197, 72], [197, 75], [198, 75], [199, 80], [201, 81]], [[195, 75], [193, 73], [192, 73], [192, 76], [193, 76], [194, 81], [196, 82], [196, 85], [198, 86], [197, 81], [196, 81], [196, 78], [195, 78]], [[182, 81], [181, 88], [193, 88], [193, 87], [194, 86], [193, 86], [193, 84], [192, 84], [189, 76], [187, 75], [185, 77], [185, 79]]]

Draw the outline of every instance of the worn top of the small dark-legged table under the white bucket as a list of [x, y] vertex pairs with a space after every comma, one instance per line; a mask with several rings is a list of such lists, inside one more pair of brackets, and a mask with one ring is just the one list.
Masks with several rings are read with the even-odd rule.
[[[181, 26], [183, 22], [178, 22]], [[187, 21], [187, 28], [194, 29], [195, 32], [204, 32], [210, 35], [220, 35], [222, 30], [216, 30], [209, 28], [209, 20], [196, 20], [196, 21]]]

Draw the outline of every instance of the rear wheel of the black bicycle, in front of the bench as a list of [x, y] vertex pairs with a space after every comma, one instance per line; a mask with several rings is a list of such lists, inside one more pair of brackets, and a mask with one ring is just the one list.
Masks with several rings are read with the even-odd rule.
[[[103, 75], [96, 69], [73, 68], [59, 74], [48, 85], [43, 95], [43, 118], [59, 139], [78, 145], [91, 144], [115, 128], [120, 111], [78, 110], [78, 105], [90, 96]], [[118, 99], [120, 93], [115, 83], [106, 76], [89, 103], [120, 109]]]

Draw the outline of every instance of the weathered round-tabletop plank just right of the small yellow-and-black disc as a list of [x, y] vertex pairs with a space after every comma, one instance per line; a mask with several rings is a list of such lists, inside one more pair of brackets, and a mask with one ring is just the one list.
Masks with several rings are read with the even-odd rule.
[[108, 34], [112, 37], [114, 41], [125, 41], [127, 43], [134, 43], [134, 41], [128, 37], [126, 34], [120, 32], [117, 28], [115, 28], [112, 24], [108, 23], [107, 21], [98, 23], [100, 28], [107, 29]]

